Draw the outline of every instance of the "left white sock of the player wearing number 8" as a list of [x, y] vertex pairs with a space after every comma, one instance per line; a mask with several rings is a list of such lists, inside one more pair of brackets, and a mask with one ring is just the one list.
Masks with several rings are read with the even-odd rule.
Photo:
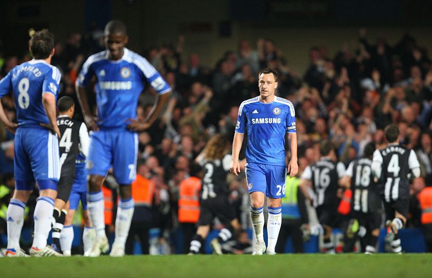
[[17, 199], [10, 199], [8, 211], [6, 214], [8, 226], [8, 249], [19, 251], [21, 229], [24, 224], [24, 209], [26, 204]]

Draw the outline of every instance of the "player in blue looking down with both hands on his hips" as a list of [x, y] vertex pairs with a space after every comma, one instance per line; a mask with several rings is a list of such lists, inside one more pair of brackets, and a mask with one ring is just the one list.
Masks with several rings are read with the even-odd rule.
[[[107, 23], [104, 40], [106, 50], [87, 59], [76, 83], [84, 120], [94, 131], [86, 162], [89, 174], [89, 215], [96, 229], [96, 241], [89, 255], [98, 256], [109, 249], [105, 235], [101, 185], [112, 166], [114, 177], [120, 184], [120, 201], [116, 236], [110, 255], [122, 256], [134, 211], [131, 183], [136, 174], [136, 132], [149, 128], [157, 119], [171, 95], [171, 89], [145, 58], [124, 47], [129, 38], [122, 22], [114, 20]], [[92, 117], [86, 93], [86, 86], [93, 76], [97, 80], [97, 118]], [[147, 118], [138, 121], [138, 97], [146, 82], [158, 92], [158, 98]]]

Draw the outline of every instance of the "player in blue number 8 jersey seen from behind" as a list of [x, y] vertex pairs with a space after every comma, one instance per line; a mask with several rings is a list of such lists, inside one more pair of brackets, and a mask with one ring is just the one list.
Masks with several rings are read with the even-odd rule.
[[7, 211], [7, 256], [26, 256], [20, 248], [20, 235], [26, 202], [34, 188], [39, 198], [34, 209], [34, 238], [30, 254], [61, 256], [46, 245], [51, 230], [54, 199], [60, 178], [59, 127], [56, 122], [56, 98], [61, 79], [57, 67], [51, 66], [54, 36], [44, 29], [29, 41], [33, 60], [14, 67], [0, 81], [0, 98], [13, 91], [18, 125], [5, 115], [0, 103], [0, 120], [15, 133], [15, 191]]

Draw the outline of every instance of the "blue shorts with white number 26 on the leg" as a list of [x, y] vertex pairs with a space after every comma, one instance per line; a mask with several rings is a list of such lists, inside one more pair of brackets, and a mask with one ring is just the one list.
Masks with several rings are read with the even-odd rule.
[[285, 197], [285, 166], [247, 163], [245, 173], [249, 194], [259, 191], [274, 199]]

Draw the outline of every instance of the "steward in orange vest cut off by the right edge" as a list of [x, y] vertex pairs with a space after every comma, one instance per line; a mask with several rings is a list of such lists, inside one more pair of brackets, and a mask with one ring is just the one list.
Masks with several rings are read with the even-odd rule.
[[422, 209], [422, 229], [426, 242], [426, 251], [432, 252], [432, 187], [422, 189], [417, 195]]

